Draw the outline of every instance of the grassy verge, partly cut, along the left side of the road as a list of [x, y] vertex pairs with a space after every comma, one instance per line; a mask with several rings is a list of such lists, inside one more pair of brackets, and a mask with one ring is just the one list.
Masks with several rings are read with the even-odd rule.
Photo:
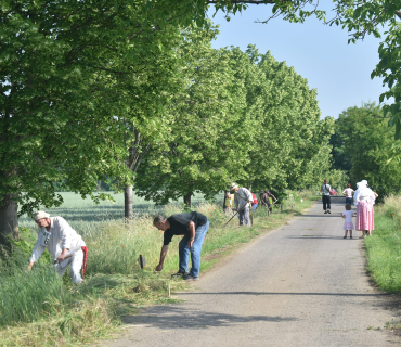
[[[274, 208], [271, 215], [259, 207], [251, 228], [238, 227], [237, 217], [224, 226], [230, 216], [216, 205], [198, 207], [210, 220], [200, 275], [238, 245], [300, 215], [313, 204], [313, 197], [293, 193], [283, 211]], [[166, 209], [167, 216], [176, 213], [180, 213], [177, 207]], [[173, 303], [169, 292], [189, 287], [183, 280], [170, 277], [178, 270], [181, 237], [172, 239], [163, 272], [154, 272], [163, 233], [152, 227], [152, 221], [151, 216], [139, 217], [130, 226], [108, 221], [87, 232], [83, 239], [89, 248], [88, 269], [79, 286], [72, 284], [68, 271], [63, 279], [50, 271], [49, 261], [26, 272], [21, 266], [26, 259], [21, 257], [28, 257], [27, 253], [15, 253], [20, 257], [16, 261], [0, 260], [0, 346], [82, 345], [109, 336], [124, 325], [124, 317], [141, 307]], [[144, 270], [138, 262], [140, 254], [147, 261]]]

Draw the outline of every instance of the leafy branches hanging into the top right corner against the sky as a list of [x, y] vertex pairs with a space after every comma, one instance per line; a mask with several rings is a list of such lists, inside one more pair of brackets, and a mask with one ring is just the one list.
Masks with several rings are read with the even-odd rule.
[[381, 37], [380, 28], [386, 28], [385, 38], [379, 43], [379, 62], [373, 69], [371, 77], [383, 78], [384, 86], [389, 89], [379, 97], [380, 103], [387, 99], [389, 104], [384, 104], [384, 116], [390, 127], [396, 127], [394, 139], [401, 139], [401, 1], [390, 0], [333, 0], [334, 17], [326, 20], [326, 12], [320, 10], [318, 0], [255, 0], [234, 1], [216, 0], [207, 1], [215, 4], [216, 11], [224, 11], [228, 20], [230, 14], [246, 10], [249, 4], [272, 4], [272, 15], [259, 23], [268, 23], [272, 18], [282, 16], [284, 21], [303, 23], [314, 15], [327, 25], [341, 26], [351, 37], [348, 42], [355, 43], [366, 35]]

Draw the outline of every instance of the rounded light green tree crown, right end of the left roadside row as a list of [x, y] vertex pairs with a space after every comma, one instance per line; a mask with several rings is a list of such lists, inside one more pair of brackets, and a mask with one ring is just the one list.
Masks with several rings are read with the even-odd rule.
[[246, 53], [251, 67], [242, 78], [256, 136], [243, 183], [253, 190], [298, 188], [307, 165], [329, 138], [329, 123], [319, 121], [316, 92], [293, 67], [270, 52], [259, 54], [254, 46]]

